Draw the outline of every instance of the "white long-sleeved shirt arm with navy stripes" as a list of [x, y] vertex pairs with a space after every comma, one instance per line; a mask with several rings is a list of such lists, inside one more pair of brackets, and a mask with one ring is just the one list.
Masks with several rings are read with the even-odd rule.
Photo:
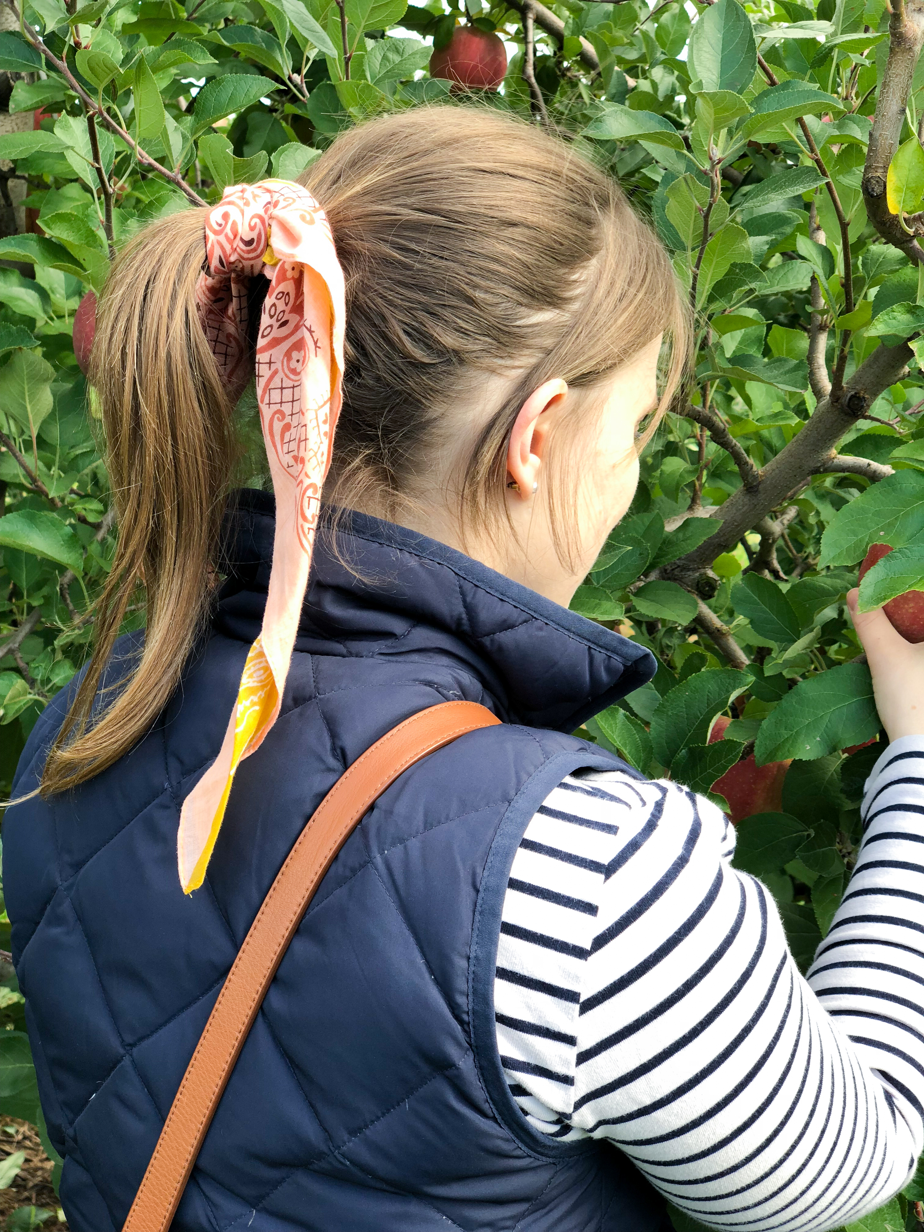
[[678, 784], [578, 771], [504, 899], [496, 1039], [529, 1121], [618, 1146], [670, 1202], [748, 1232], [851, 1223], [924, 1147], [924, 738], [892, 743], [803, 978], [734, 829]]

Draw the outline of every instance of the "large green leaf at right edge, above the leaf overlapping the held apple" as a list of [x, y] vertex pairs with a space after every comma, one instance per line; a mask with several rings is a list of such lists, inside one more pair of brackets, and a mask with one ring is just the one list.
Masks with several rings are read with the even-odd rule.
[[[924, 532], [924, 476], [897, 471], [873, 483], [838, 513], [822, 536], [822, 568], [854, 564], [870, 543], [904, 547]], [[856, 744], [856, 740], [848, 740]]]

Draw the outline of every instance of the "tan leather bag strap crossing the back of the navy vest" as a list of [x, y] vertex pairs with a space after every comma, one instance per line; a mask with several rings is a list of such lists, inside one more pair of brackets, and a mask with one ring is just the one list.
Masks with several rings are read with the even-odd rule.
[[386, 787], [429, 753], [500, 722], [447, 701], [392, 728], [338, 780], [278, 871], [228, 972], [164, 1122], [123, 1232], [166, 1232], [266, 991], [324, 873]]

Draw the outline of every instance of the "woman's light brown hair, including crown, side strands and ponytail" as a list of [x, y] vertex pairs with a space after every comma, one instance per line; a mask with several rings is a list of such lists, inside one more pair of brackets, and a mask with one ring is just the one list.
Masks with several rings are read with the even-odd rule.
[[[344, 408], [325, 499], [373, 493], [388, 516], [399, 513], [473, 373], [509, 372], [460, 489], [466, 517], [496, 529], [508, 439], [538, 384], [596, 386], [664, 333], [662, 409], [676, 389], [689, 326], [670, 261], [618, 185], [574, 147], [487, 108], [420, 107], [342, 133], [302, 182], [326, 211], [346, 278]], [[118, 545], [42, 795], [137, 743], [208, 615], [238, 451], [196, 315], [202, 260], [202, 212], [172, 214], [127, 246], [100, 297], [90, 382]], [[142, 588], [144, 646], [108, 699], [103, 668]]]

